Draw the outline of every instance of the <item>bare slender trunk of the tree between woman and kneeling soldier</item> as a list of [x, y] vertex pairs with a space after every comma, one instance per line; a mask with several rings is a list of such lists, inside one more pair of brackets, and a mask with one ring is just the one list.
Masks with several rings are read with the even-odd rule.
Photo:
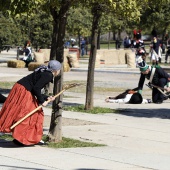
[[94, 93], [94, 68], [96, 60], [96, 49], [97, 49], [97, 34], [98, 24], [101, 18], [101, 6], [96, 3], [92, 9], [93, 23], [92, 23], [92, 35], [91, 35], [91, 50], [88, 65], [88, 76], [86, 86], [86, 103], [85, 110], [91, 110], [93, 108], [93, 93]]

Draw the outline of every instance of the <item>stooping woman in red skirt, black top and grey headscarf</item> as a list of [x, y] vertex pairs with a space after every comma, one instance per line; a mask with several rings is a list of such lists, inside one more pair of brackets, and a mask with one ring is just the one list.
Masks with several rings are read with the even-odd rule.
[[53, 96], [45, 96], [41, 94], [41, 90], [49, 82], [53, 82], [60, 70], [60, 62], [51, 60], [48, 66], [38, 67], [14, 84], [0, 111], [0, 132], [12, 133], [15, 144], [29, 146], [41, 141], [44, 120], [42, 109], [37, 110], [14, 129], [11, 130], [10, 127], [39, 105], [45, 107], [47, 100], [54, 101]]

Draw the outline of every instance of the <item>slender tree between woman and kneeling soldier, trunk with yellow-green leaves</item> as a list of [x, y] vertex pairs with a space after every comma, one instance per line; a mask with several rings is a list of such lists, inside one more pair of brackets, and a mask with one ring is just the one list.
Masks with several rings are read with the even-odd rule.
[[[144, 0], [142, 3], [145, 3]], [[92, 34], [91, 34], [91, 51], [88, 66], [88, 76], [87, 76], [87, 86], [86, 86], [86, 102], [85, 109], [90, 110], [93, 108], [94, 101], [94, 68], [96, 60], [96, 49], [97, 49], [97, 34], [99, 29], [99, 21], [102, 14], [108, 12], [114, 13], [119, 18], [127, 17], [128, 20], [139, 20], [141, 7], [137, 6], [138, 1], [129, 0], [98, 0], [98, 1], [88, 1], [88, 5], [92, 8], [93, 22], [92, 22]]]

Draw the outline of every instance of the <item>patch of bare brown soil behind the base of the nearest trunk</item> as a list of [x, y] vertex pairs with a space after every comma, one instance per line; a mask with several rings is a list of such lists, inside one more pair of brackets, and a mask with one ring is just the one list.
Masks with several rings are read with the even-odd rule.
[[[44, 126], [50, 126], [51, 116], [44, 116]], [[62, 117], [62, 126], [100, 125], [101, 123]]]

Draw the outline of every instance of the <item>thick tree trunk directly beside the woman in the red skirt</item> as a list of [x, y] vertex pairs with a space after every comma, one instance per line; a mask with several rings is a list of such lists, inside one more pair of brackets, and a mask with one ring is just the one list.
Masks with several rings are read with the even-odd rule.
[[[60, 75], [54, 79], [53, 94], [58, 94], [63, 87], [63, 61], [64, 61], [64, 37], [67, 21], [67, 11], [71, 6], [71, 1], [65, 2], [57, 12], [51, 11], [55, 24], [53, 29], [53, 43], [51, 46], [50, 59], [56, 59], [61, 62], [62, 69]], [[62, 140], [62, 100], [63, 95], [61, 94], [52, 105], [51, 123], [49, 129], [49, 141], [59, 142]]]

